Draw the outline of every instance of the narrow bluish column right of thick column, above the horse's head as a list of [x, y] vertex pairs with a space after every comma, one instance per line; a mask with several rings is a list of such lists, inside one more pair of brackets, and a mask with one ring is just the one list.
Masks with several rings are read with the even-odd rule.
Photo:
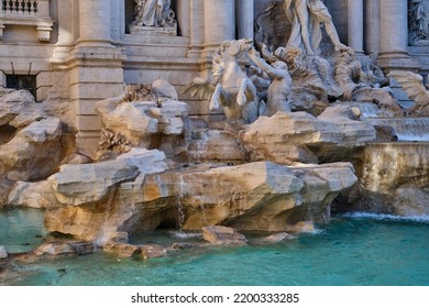
[[235, 4], [237, 38], [249, 37], [253, 40], [254, 0], [237, 0]]

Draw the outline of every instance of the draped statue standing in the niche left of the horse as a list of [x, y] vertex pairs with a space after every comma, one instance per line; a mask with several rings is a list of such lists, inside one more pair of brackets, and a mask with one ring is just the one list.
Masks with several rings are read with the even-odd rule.
[[135, 20], [133, 24], [145, 26], [165, 26], [174, 22], [175, 14], [170, 0], [134, 0]]

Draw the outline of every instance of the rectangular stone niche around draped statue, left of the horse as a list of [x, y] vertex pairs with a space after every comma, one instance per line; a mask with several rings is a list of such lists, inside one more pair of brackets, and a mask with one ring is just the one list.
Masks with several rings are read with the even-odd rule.
[[125, 1], [127, 33], [141, 36], [177, 36], [176, 0], [147, 0], [147, 4], [143, 2]]

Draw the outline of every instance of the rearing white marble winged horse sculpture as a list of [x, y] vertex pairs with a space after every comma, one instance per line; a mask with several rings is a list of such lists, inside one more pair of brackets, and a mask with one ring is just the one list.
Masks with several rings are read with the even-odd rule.
[[195, 77], [183, 94], [209, 99], [211, 111], [222, 107], [227, 120], [254, 122], [263, 113], [264, 103], [260, 102], [256, 88], [238, 62], [252, 47], [250, 38], [223, 42], [213, 55], [212, 81]]

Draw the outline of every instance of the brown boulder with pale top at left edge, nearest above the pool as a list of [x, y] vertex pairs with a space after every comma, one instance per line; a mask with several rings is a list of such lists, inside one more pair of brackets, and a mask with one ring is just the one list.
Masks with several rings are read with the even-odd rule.
[[0, 174], [10, 180], [36, 180], [52, 175], [62, 158], [59, 120], [47, 118], [25, 127], [0, 146]]

